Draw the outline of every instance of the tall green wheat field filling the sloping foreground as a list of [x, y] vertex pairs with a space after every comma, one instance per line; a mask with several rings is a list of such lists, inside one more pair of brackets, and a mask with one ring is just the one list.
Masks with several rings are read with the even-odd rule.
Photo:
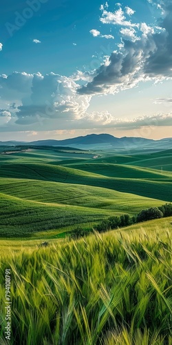
[[[10, 268], [10, 344], [171, 344], [171, 220], [163, 230], [153, 221], [144, 229], [12, 255], [8, 250], [1, 256], [0, 279]], [[4, 284], [0, 294], [6, 344]]]

